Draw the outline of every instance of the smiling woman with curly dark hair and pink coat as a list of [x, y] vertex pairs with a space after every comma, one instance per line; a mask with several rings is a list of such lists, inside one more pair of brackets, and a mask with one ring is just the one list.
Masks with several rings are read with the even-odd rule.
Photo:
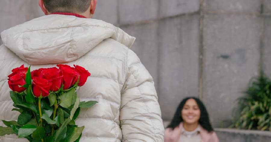
[[164, 142], [219, 142], [208, 112], [198, 98], [182, 100], [167, 126]]

